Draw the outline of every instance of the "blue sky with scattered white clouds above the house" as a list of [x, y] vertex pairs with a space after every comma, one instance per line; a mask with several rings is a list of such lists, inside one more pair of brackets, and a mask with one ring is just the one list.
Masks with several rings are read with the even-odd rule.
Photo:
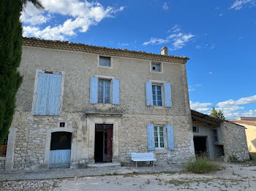
[[42, 0], [23, 36], [187, 56], [191, 108], [256, 117], [256, 0]]

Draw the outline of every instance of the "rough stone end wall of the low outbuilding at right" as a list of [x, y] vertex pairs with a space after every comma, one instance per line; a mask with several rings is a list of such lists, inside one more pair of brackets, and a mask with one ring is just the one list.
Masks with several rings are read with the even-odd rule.
[[233, 122], [222, 122], [222, 139], [225, 152], [225, 161], [230, 156], [236, 156], [238, 160], [249, 160], [249, 152], [244, 126]]

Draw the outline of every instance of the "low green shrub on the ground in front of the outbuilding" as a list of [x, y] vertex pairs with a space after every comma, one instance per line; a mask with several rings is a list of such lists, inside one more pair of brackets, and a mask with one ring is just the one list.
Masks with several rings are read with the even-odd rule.
[[184, 167], [187, 169], [187, 171], [195, 174], [205, 174], [220, 171], [224, 168], [222, 166], [222, 161], [217, 159], [211, 160], [206, 155], [195, 157], [195, 159], [190, 160], [189, 163], [185, 164]]

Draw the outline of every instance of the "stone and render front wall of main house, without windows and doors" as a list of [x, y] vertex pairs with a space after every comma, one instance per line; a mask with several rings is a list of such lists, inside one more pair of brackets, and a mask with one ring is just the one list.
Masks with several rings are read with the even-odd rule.
[[[16, 133], [11, 168], [48, 168], [50, 135], [60, 131], [72, 133], [70, 168], [94, 163], [95, 124], [105, 123], [113, 124], [113, 163], [131, 163], [131, 152], [148, 152], [148, 123], [173, 125], [175, 149], [165, 146], [153, 151], [157, 163], [182, 163], [194, 157], [186, 65], [184, 58], [168, 59], [173, 60], [162, 62], [162, 71], [157, 73], [146, 59], [111, 56], [108, 68], [99, 66], [96, 53], [23, 46], [19, 68], [23, 84], [12, 121]], [[38, 70], [64, 74], [58, 116], [34, 115]], [[120, 104], [90, 104], [90, 77], [118, 79]], [[146, 106], [147, 81], [172, 85], [170, 108]], [[60, 128], [60, 122], [66, 123], [65, 128]]]

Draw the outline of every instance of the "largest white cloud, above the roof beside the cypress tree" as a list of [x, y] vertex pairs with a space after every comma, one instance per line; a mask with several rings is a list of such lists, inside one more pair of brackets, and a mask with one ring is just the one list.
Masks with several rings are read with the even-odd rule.
[[[30, 3], [21, 16], [23, 36], [35, 36], [43, 39], [68, 39], [78, 32], [86, 32], [90, 26], [97, 25], [105, 17], [114, 17], [124, 7], [103, 7], [98, 2], [79, 0], [42, 0], [45, 12], [39, 12]], [[48, 23], [50, 15], [67, 17], [64, 23], [45, 28], [40, 24]], [[45, 16], [47, 15], [47, 16]]]

